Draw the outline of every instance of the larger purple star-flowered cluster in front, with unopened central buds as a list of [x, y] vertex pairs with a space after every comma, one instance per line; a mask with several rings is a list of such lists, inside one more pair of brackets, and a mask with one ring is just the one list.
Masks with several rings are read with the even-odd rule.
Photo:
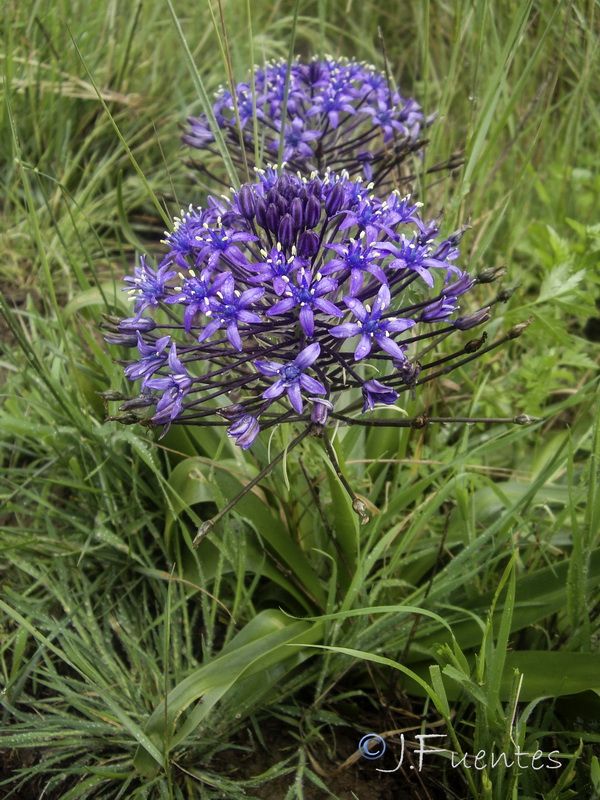
[[439, 241], [419, 203], [371, 190], [269, 168], [182, 212], [158, 268], [142, 258], [126, 278], [134, 316], [106, 336], [137, 350], [125, 375], [142, 393], [123, 408], [156, 404], [150, 421], [167, 427], [225, 424], [247, 448], [261, 429], [324, 425], [361, 395], [366, 411], [427, 380], [440, 362], [420, 363], [419, 348], [489, 310], [457, 317], [475, 283], [456, 264], [462, 230]]

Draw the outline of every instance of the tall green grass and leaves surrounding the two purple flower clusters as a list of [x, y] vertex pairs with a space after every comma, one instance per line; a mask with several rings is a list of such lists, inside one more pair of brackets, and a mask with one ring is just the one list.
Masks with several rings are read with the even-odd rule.
[[[600, 253], [597, 3], [319, 0], [293, 24], [290, 4], [230, 0], [227, 47], [216, 3], [172, 11], [180, 30], [162, 3], [4, 16], [3, 790], [235, 798], [277, 779], [282, 796], [335, 794], [354, 749], [336, 751], [336, 731], [398, 731], [410, 702], [455, 753], [518, 743], [563, 758], [557, 782], [445, 756], [440, 797], [600, 795], [600, 425], [583, 335]], [[292, 34], [303, 55], [387, 59], [438, 110], [425, 166], [458, 150], [465, 163], [421, 199], [447, 230], [471, 220], [465, 266], [508, 264], [518, 288], [490, 334], [534, 318], [407, 411], [544, 419], [340, 428], [367, 526], [311, 440], [195, 551], [266, 444], [244, 455], [210, 429], [158, 441], [106, 423], [98, 393], [125, 382], [99, 315], [126, 307], [121, 277], [160, 251], [165, 219], [206, 196], [178, 142], [199, 87], [227, 81], [227, 54], [236, 79], [251, 54], [287, 57]], [[260, 778], [225, 770], [219, 752], [258, 752], [269, 719], [297, 746]]]

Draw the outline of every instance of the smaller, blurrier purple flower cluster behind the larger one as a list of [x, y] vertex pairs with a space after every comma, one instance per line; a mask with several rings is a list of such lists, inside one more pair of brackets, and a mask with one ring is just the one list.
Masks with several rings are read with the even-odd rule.
[[[345, 169], [377, 186], [390, 177], [396, 185], [408, 178], [400, 164], [424, 146], [421, 133], [432, 122], [375, 67], [345, 58], [296, 60], [289, 69], [287, 61], [270, 62], [255, 69], [254, 87], [251, 81], [236, 85], [235, 101], [221, 88], [212, 110], [240, 168], [241, 147], [251, 163], [259, 143], [267, 159], [276, 157], [283, 127], [283, 160], [290, 169], [305, 175]], [[189, 117], [188, 123], [183, 141], [214, 151], [206, 115]]]

